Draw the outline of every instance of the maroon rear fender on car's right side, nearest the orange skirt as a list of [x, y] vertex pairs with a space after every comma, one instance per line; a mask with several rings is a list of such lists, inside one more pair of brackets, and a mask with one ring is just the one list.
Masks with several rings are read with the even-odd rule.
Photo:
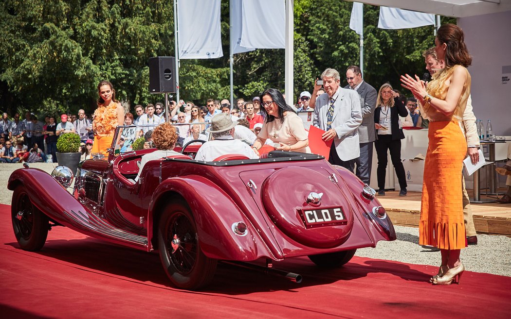
[[378, 199], [375, 197], [368, 200], [362, 196], [364, 183], [355, 174], [340, 166], [335, 166], [335, 169], [341, 176], [341, 179], [346, 183], [346, 187], [349, 188], [353, 194], [354, 200], [361, 208], [359, 210], [364, 211], [364, 215], [360, 220], [365, 222], [364, 228], [366, 228], [368, 233], [373, 237], [374, 243], [396, 240], [396, 231], [388, 215], [386, 215], [385, 218], [378, 218], [373, 214], [373, 208], [381, 206]]

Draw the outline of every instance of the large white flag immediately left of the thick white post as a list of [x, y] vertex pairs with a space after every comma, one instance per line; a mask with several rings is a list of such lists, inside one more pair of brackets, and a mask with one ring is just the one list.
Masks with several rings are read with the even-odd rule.
[[240, 46], [257, 49], [286, 48], [284, 0], [243, 1]]

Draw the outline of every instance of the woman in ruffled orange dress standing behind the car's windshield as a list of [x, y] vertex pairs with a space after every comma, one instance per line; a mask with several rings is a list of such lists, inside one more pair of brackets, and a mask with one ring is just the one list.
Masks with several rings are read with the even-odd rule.
[[94, 144], [92, 153], [103, 153], [108, 157], [107, 148], [111, 147], [113, 135], [117, 125], [124, 123], [124, 109], [115, 99], [115, 90], [108, 81], [98, 84], [98, 109], [94, 111], [92, 129], [94, 130]]

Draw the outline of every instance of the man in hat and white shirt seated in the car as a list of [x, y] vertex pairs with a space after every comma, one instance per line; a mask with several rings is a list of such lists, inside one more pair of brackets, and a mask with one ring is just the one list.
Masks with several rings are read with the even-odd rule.
[[195, 159], [197, 161], [213, 161], [225, 154], [242, 154], [248, 158], [258, 158], [250, 146], [234, 138], [234, 127], [238, 122], [233, 122], [228, 113], [220, 113], [211, 119], [211, 127], [206, 131], [213, 135], [214, 140], [204, 143]]

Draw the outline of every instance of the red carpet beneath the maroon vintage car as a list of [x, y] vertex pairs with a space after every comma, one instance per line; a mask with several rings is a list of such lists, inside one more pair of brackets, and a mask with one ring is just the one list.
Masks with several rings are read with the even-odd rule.
[[432, 286], [436, 268], [354, 257], [320, 271], [307, 258], [274, 263], [301, 284], [219, 264], [208, 290], [169, 286], [157, 254], [54, 227], [39, 252], [18, 248], [0, 205], [2, 318], [508, 318], [511, 278], [465, 272]]

